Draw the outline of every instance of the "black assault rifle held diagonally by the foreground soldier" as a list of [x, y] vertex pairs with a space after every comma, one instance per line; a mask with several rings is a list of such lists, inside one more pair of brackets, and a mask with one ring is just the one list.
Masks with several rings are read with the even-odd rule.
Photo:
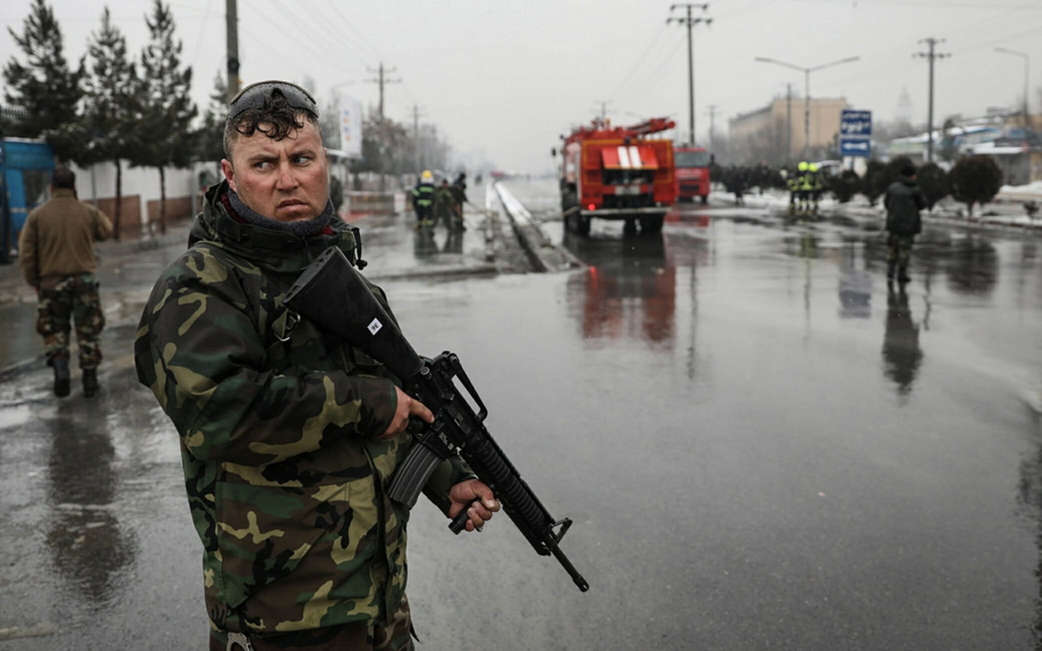
[[[433, 359], [417, 355], [365, 280], [337, 247], [327, 248], [304, 269], [284, 303], [319, 329], [336, 334], [381, 362], [404, 382], [410, 395], [435, 414], [432, 424], [421, 421], [419, 428], [411, 428], [416, 442], [391, 480], [388, 488], [391, 499], [412, 507], [435, 467], [443, 459], [460, 455], [477, 478], [492, 488], [536, 552], [544, 556], [552, 554], [580, 590], [590, 589], [560, 548], [561, 538], [572, 522], [553, 520], [496, 444], [483, 425], [489, 411], [460, 358], [449, 352]], [[477, 406], [477, 412], [469, 401]], [[414, 419], [414, 424], [417, 421]], [[458, 534], [465, 528], [467, 510], [460, 511], [449, 524], [453, 533]]]

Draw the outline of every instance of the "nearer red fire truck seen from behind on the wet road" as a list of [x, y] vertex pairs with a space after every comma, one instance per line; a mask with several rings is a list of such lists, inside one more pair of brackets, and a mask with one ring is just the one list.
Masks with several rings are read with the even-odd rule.
[[[676, 201], [673, 143], [648, 138], [671, 129], [668, 118], [632, 126], [594, 120], [565, 138], [561, 165], [561, 209], [565, 226], [590, 233], [594, 218], [625, 220], [625, 233], [659, 233]], [[556, 153], [556, 152], [554, 152]]]

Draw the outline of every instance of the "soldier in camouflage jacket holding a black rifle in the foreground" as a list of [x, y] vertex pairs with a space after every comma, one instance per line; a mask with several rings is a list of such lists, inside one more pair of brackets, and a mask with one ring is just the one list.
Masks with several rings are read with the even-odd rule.
[[[224, 149], [225, 179], [134, 342], [138, 378], [180, 434], [209, 648], [412, 649], [408, 509], [386, 484], [412, 445], [410, 417], [432, 415], [381, 364], [282, 305], [323, 250], [358, 265], [356, 232], [329, 200], [318, 106], [293, 83], [248, 86], [229, 104]], [[458, 460], [424, 492], [447, 515], [480, 500], [468, 531], [499, 510]]]

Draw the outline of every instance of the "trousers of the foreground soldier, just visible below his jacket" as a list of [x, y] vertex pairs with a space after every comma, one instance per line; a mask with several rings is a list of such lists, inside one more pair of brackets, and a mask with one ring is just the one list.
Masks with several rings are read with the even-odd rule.
[[[358, 622], [273, 635], [252, 635], [253, 651], [413, 651], [413, 620], [408, 601], [402, 597], [398, 608], [383, 624]], [[210, 630], [209, 651], [225, 651], [226, 631]], [[235, 646], [232, 651], [243, 651]]]

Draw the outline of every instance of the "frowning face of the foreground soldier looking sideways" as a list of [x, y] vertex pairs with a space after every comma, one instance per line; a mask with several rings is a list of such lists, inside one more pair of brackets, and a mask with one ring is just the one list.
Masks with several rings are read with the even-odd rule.
[[240, 135], [231, 145], [231, 161], [221, 161], [221, 169], [239, 198], [269, 219], [312, 219], [329, 199], [325, 148], [311, 122], [282, 140], [259, 130]]

